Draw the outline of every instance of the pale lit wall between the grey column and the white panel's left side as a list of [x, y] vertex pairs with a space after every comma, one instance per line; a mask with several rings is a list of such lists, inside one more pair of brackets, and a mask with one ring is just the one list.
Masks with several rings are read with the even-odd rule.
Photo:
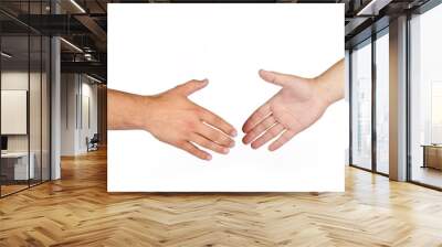
[[98, 129], [97, 85], [81, 74], [62, 74], [61, 80], [61, 154], [77, 155]]

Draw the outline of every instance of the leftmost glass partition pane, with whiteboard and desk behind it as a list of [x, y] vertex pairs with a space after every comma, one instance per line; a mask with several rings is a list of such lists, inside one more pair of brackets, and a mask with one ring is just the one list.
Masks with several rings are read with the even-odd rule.
[[[2, 196], [28, 187], [29, 39], [1, 37], [1, 183]], [[4, 55], [7, 54], [7, 55]]]

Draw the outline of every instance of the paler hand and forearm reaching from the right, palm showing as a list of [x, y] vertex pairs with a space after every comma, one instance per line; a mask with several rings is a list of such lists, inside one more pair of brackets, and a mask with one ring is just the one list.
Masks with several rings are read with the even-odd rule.
[[242, 141], [257, 149], [271, 140], [275, 151], [311, 127], [328, 106], [344, 98], [344, 60], [315, 78], [303, 78], [261, 69], [262, 79], [281, 90], [257, 108], [244, 122]]

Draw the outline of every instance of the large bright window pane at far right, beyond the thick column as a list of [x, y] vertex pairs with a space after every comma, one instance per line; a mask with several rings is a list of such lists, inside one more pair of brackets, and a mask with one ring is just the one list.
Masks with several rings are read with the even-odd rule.
[[442, 4], [411, 20], [411, 180], [442, 187]]

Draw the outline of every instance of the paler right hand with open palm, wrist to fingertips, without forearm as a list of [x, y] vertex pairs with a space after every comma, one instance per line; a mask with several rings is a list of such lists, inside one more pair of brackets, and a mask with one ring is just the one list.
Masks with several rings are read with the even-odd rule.
[[260, 76], [283, 88], [245, 121], [243, 142], [257, 149], [278, 137], [269, 146], [273, 151], [314, 124], [327, 104], [318, 97], [313, 79], [266, 71], [260, 71]]

